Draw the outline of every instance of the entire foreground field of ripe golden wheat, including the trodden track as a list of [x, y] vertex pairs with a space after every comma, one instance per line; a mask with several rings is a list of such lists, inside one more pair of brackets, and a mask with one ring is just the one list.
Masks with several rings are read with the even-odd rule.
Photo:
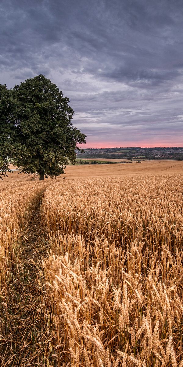
[[2, 366], [183, 367], [182, 182], [1, 183]]

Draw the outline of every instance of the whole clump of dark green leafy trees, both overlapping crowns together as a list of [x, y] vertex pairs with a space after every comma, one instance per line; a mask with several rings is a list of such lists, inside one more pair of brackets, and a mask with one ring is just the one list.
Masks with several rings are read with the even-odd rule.
[[22, 172], [56, 177], [86, 135], [72, 126], [74, 110], [59, 88], [38, 75], [8, 89], [0, 84], [0, 178], [12, 162]]

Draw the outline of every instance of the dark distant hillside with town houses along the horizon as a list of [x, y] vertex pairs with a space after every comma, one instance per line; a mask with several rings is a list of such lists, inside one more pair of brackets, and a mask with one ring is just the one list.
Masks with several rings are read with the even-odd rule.
[[128, 159], [128, 160], [151, 160], [171, 159], [183, 160], [183, 147], [173, 148], [85, 148], [82, 154], [76, 150], [77, 158], [85, 159]]

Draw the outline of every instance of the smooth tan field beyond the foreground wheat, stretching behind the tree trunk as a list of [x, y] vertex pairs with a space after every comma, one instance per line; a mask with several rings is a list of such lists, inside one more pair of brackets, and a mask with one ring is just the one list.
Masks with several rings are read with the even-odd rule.
[[[87, 177], [122, 177], [126, 175], [146, 175], [146, 174], [173, 174], [183, 173], [183, 161], [172, 160], [152, 160], [141, 161], [141, 163], [119, 163], [119, 164], [100, 164], [100, 165], [82, 165], [82, 166], [67, 166], [66, 174], [60, 178], [66, 179], [87, 178]], [[60, 178], [56, 178], [57, 180]], [[14, 173], [8, 174], [4, 178], [4, 182], [8, 181], [27, 181], [31, 176], [25, 174]], [[38, 179], [38, 178], [37, 178]], [[47, 181], [47, 180], [46, 180]], [[49, 180], [48, 180], [49, 181]], [[0, 183], [1, 184], [1, 183]]]

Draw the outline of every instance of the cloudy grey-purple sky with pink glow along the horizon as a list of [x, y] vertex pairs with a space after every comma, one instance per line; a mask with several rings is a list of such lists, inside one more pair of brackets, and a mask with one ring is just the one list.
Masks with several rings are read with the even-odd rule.
[[183, 146], [182, 0], [0, 0], [0, 83], [39, 74], [87, 148]]

